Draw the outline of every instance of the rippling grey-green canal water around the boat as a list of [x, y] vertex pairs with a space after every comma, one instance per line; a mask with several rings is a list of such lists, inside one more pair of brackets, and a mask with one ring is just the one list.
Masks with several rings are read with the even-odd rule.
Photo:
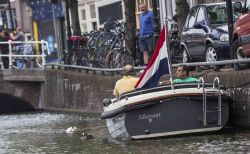
[[[98, 114], [31, 112], [0, 115], [0, 153], [250, 153], [249, 130], [151, 140], [111, 139]], [[66, 133], [76, 127], [74, 133]], [[82, 133], [93, 136], [85, 139]]]

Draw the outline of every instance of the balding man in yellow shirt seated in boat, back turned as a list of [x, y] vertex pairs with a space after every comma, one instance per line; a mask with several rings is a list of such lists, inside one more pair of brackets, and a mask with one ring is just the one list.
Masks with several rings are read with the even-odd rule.
[[139, 78], [135, 77], [134, 67], [129, 64], [125, 65], [123, 67], [123, 78], [116, 82], [113, 94], [119, 99], [122, 93], [134, 90], [138, 80]]

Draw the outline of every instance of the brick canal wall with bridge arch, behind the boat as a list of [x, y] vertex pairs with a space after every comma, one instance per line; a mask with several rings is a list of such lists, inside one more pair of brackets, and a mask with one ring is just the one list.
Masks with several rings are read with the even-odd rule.
[[[232, 96], [232, 121], [250, 127], [250, 70], [203, 72], [205, 81], [218, 76]], [[0, 113], [11, 110], [102, 111], [103, 98], [112, 98], [117, 70], [89, 70], [84, 67], [51, 65], [45, 69], [1, 70]]]

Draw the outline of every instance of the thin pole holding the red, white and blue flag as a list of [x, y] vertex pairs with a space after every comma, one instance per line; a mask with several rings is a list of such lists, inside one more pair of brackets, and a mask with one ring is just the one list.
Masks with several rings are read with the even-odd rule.
[[171, 57], [170, 57], [170, 48], [169, 48], [169, 40], [168, 40], [168, 23], [167, 23], [167, 18], [165, 18], [165, 42], [166, 42], [166, 46], [167, 46], [167, 50], [168, 50], [168, 69], [169, 69], [169, 80], [170, 80], [170, 84], [171, 84], [171, 89], [174, 90], [174, 84], [173, 84], [173, 70], [172, 70], [172, 62], [171, 62]]

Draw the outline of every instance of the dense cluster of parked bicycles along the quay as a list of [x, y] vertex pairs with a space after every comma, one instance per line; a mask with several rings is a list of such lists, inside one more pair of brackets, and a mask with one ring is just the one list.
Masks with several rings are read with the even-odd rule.
[[98, 68], [118, 68], [125, 62], [134, 64], [125, 45], [125, 32], [125, 23], [111, 18], [102, 30], [84, 33], [75, 40], [71, 38], [73, 48], [66, 54], [65, 63]]

